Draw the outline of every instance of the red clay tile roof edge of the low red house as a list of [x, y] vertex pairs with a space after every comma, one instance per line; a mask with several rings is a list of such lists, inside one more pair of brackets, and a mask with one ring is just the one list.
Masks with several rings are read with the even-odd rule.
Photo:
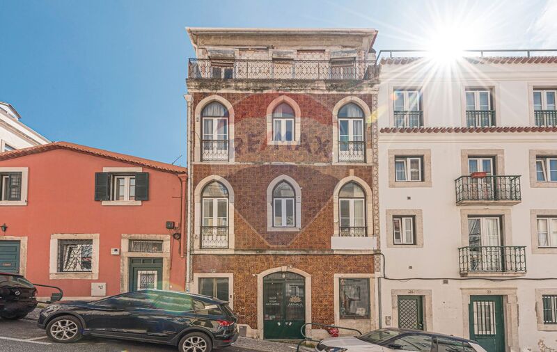
[[48, 152], [49, 150], [56, 150], [56, 149], [65, 149], [65, 150], [72, 150], [74, 152], [91, 154], [91, 155], [95, 155], [96, 157], [103, 157], [107, 159], [113, 159], [116, 161], [133, 163], [135, 165], [145, 166], [147, 168], [154, 168], [157, 170], [166, 171], [168, 173], [187, 173], [187, 168], [182, 168], [182, 166], [175, 166], [170, 163], [161, 163], [159, 161], [133, 157], [132, 155], [127, 155], [127, 154], [109, 152], [108, 150], [86, 147], [85, 145], [79, 145], [79, 144], [68, 143], [68, 142], [54, 142], [45, 145], [37, 145], [36, 147], [17, 149], [11, 152], [3, 152], [0, 153], [0, 161], [18, 158], [18, 157], [24, 157], [29, 154]]

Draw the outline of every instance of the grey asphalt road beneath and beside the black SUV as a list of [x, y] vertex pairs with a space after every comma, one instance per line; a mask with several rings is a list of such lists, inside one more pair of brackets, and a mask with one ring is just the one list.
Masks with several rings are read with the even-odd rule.
[[[116, 339], [102, 339], [97, 337], [84, 337], [74, 344], [57, 344], [48, 339], [45, 330], [36, 326], [36, 321], [22, 319], [19, 321], [6, 321], [0, 319], [0, 351], [1, 352], [58, 352], [58, 351], [102, 351], [102, 352], [170, 352], [178, 351], [173, 346], [147, 344], [144, 342], [128, 342]], [[235, 346], [219, 351], [240, 352], [253, 349], [240, 349]]]

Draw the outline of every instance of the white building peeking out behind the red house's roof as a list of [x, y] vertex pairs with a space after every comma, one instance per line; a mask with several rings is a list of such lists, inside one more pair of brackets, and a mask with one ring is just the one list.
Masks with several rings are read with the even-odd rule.
[[19, 122], [21, 116], [8, 103], [0, 102], [0, 152], [50, 143], [33, 129]]

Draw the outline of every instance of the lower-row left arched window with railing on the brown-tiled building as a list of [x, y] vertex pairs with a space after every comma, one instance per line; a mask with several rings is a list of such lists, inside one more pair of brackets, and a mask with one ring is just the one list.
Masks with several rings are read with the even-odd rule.
[[201, 193], [201, 248], [228, 248], [228, 189], [213, 181]]

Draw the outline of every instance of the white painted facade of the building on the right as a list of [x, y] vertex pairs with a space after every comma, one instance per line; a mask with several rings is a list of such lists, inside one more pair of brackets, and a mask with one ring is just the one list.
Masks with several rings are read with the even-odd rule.
[[[535, 173], [531, 165], [532, 155], [540, 151], [557, 155], [557, 131], [385, 130], [394, 127], [395, 88], [421, 91], [426, 128], [466, 127], [467, 87], [491, 90], [496, 126], [532, 127], [533, 89], [557, 87], [557, 65], [473, 64], [463, 60], [450, 70], [447, 67], [429, 59], [406, 64], [386, 61], [381, 67], [377, 116], [380, 248], [386, 258], [386, 277], [409, 280], [380, 280], [376, 290], [380, 326], [398, 326], [398, 295], [417, 295], [423, 296], [425, 330], [469, 337], [470, 295], [501, 295], [503, 351], [557, 349], [557, 325], [543, 324], [540, 314], [542, 294], [557, 293], [557, 248], [540, 250], [535, 220], [536, 214], [557, 216], [557, 182], [540, 186], [532, 179]], [[416, 155], [430, 152], [423, 165], [425, 173], [430, 169], [430, 184], [393, 185], [389, 175], [394, 173], [389, 167], [393, 161], [389, 159], [400, 151]], [[467, 156], [485, 154], [499, 163], [497, 175], [520, 176], [518, 204], [456, 205], [455, 179], [469, 175]], [[533, 214], [535, 209], [543, 211]], [[392, 239], [389, 241], [393, 230], [388, 214], [405, 214], [407, 210], [421, 210], [423, 243], [393, 244]], [[485, 215], [501, 216], [501, 245], [526, 246], [526, 273], [460, 274], [458, 248], [469, 245], [468, 217]], [[554, 279], [534, 280], [537, 278]]]

